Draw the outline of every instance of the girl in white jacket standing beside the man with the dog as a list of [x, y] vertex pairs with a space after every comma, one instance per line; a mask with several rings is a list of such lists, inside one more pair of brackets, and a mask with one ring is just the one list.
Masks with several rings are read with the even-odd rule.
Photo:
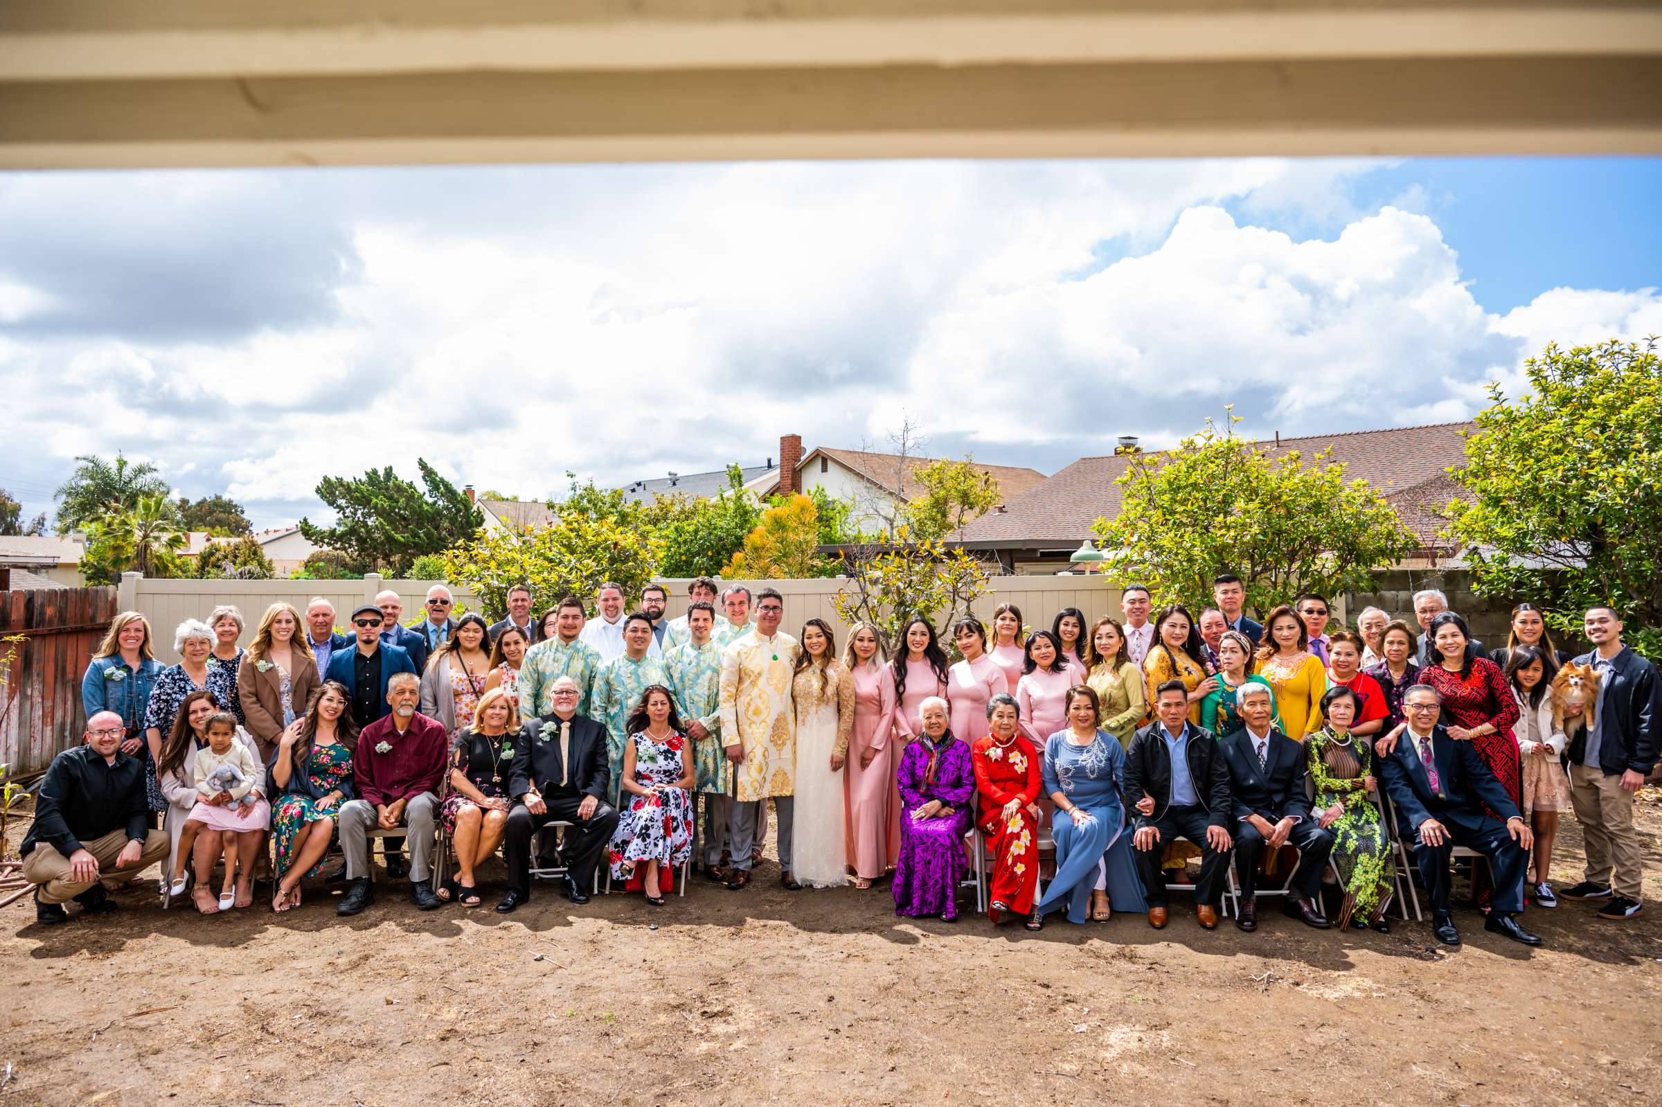
[[1517, 696], [1517, 760], [1524, 791], [1524, 818], [1536, 833], [1531, 884], [1537, 908], [1556, 908], [1557, 896], [1547, 883], [1552, 869], [1552, 839], [1559, 811], [1569, 809], [1569, 776], [1564, 775], [1564, 735], [1554, 700], [1556, 660], [1539, 645], [1512, 645], [1506, 657], [1506, 680]]

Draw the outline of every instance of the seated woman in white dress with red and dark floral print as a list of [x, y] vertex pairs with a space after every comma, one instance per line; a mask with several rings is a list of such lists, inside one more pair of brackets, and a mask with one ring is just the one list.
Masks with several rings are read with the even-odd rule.
[[640, 876], [653, 908], [693, 856], [693, 743], [665, 685], [650, 685], [628, 718], [622, 795], [628, 804], [607, 848], [612, 879]]

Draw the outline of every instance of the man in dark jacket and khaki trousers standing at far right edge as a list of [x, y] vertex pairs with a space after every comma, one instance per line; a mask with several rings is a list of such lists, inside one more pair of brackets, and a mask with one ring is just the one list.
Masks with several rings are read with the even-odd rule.
[[[1566, 899], [1604, 899], [1601, 919], [1630, 919], [1644, 909], [1644, 843], [1634, 828], [1634, 793], [1657, 761], [1662, 681], [1655, 667], [1622, 645], [1622, 620], [1609, 607], [1582, 618], [1592, 653], [1577, 665], [1599, 670], [1599, 706], [1569, 746], [1569, 798], [1581, 823], [1587, 868]], [[1569, 718], [1576, 715], [1566, 713]], [[1614, 874], [1614, 879], [1612, 879]]]

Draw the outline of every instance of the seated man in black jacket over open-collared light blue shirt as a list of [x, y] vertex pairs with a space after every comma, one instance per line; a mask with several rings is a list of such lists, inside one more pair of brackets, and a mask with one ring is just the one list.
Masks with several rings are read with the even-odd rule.
[[1148, 926], [1167, 919], [1160, 853], [1178, 836], [1200, 846], [1195, 918], [1208, 931], [1228, 876], [1230, 773], [1210, 730], [1188, 721], [1188, 688], [1168, 680], [1155, 690], [1157, 721], [1143, 726], [1125, 751], [1125, 809], [1135, 811], [1132, 836], [1148, 899]]

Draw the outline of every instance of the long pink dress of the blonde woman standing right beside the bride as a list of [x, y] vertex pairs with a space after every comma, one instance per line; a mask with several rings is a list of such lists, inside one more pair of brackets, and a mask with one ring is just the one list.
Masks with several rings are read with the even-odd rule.
[[[899, 851], [897, 809], [891, 809], [889, 801], [894, 791], [894, 678], [888, 665], [876, 662], [856, 667], [853, 675], [854, 736], [843, 770], [843, 826], [854, 874], [878, 879]], [[861, 755], [871, 748], [878, 756], [869, 768], [861, 768]]]

